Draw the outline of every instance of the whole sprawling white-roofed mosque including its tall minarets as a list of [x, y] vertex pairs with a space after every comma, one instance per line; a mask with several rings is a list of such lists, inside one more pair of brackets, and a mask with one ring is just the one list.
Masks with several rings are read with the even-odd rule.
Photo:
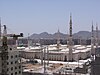
[[67, 45], [60, 44], [60, 38], [58, 34], [57, 44], [55, 45], [44, 45], [27, 48], [17, 47], [17, 49], [20, 51], [20, 55], [23, 58], [41, 59], [41, 64], [43, 64], [43, 59], [70, 62], [79, 61], [80, 59], [87, 59], [90, 58], [91, 55], [95, 55], [95, 49], [98, 47], [98, 27], [96, 26], [96, 36], [94, 37], [94, 28], [92, 23], [91, 45], [74, 45], [72, 39], [72, 16], [70, 15], [69, 38]]

